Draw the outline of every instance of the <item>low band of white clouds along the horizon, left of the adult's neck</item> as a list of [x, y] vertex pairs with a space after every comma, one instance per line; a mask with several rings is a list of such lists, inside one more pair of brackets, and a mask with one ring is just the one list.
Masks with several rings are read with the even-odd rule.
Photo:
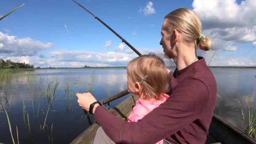
[[[163, 57], [163, 51], [160, 48], [147, 49], [138, 48], [142, 54], [148, 54], [153, 52]], [[44, 57], [42, 54], [39, 56], [16, 56], [8, 57], [14, 62], [25, 62], [34, 67], [84, 67], [96, 66], [96, 67], [113, 67], [113, 66], [127, 66], [128, 62], [138, 55], [133, 51], [109, 51], [109, 52], [93, 52], [82, 50], [56, 50], [50, 52], [48, 57]], [[4, 60], [6, 60], [4, 59]], [[169, 61], [167, 61], [169, 65]]]

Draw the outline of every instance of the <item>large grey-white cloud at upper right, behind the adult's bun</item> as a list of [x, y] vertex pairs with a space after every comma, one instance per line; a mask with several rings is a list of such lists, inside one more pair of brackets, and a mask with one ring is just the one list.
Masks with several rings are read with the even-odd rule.
[[202, 21], [203, 33], [218, 48], [256, 40], [256, 1], [194, 0], [193, 11]]

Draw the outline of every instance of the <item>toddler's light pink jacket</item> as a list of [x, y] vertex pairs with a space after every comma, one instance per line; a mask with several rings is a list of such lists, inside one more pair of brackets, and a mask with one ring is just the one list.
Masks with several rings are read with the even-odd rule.
[[[147, 115], [149, 112], [151, 112], [153, 109], [158, 107], [160, 104], [166, 101], [168, 99], [167, 94], [163, 94], [163, 99], [162, 101], [147, 101], [144, 99], [139, 98], [136, 101], [135, 106], [133, 107], [133, 110], [131, 114], [128, 117], [128, 122], [136, 122], [140, 120], [142, 117]], [[156, 144], [163, 144], [163, 140], [157, 142]]]

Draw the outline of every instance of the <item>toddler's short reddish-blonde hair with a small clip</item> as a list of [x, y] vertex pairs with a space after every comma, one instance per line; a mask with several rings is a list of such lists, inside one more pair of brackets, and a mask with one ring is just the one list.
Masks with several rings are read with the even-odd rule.
[[141, 83], [145, 97], [143, 99], [161, 100], [162, 94], [167, 91], [168, 72], [163, 59], [154, 53], [139, 56], [129, 62], [127, 67], [128, 79]]

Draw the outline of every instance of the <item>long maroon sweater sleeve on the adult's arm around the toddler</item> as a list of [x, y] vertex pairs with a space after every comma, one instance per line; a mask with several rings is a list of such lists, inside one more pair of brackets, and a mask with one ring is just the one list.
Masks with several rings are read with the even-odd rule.
[[137, 122], [121, 120], [103, 107], [96, 108], [95, 120], [115, 143], [155, 143], [200, 117], [208, 98], [208, 86], [192, 77], [176, 85], [163, 104]]

